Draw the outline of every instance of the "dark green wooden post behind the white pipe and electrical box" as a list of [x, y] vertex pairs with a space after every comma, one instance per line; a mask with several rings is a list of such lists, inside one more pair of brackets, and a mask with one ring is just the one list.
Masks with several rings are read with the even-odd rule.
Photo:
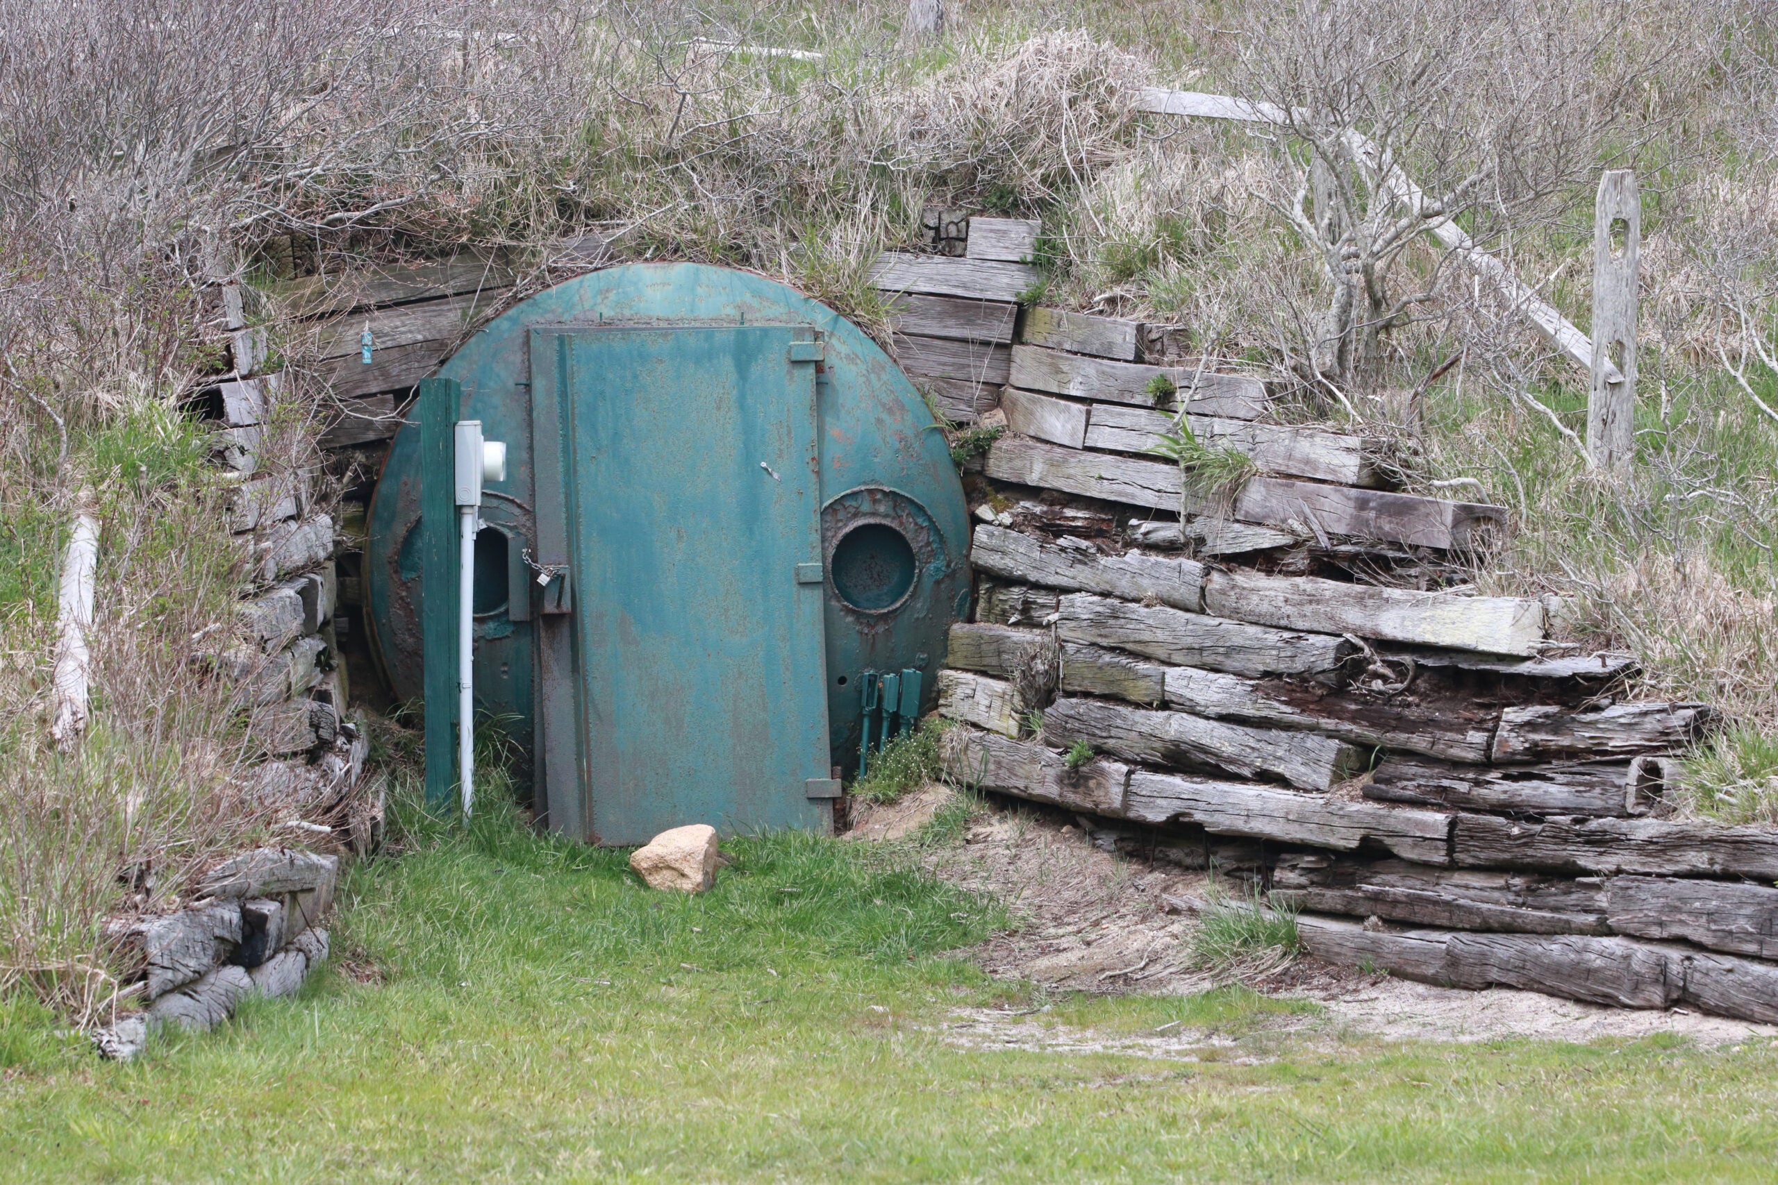
[[420, 380], [420, 636], [427, 696], [427, 807], [452, 803], [457, 723], [457, 508], [452, 430], [462, 387]]

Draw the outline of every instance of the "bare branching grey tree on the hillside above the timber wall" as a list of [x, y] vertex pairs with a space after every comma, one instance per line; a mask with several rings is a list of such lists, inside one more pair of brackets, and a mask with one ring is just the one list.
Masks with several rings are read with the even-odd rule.
[[1301, 370], [1341, 387], [1374, 384], [1383, 336], [1428, 313], [1446, 259], [1405, 277], [1403, 254], [1449, 220], [1501, 242], [1554, 215], [1597, 167], [1620, 98], [1661, 57], [1600, 69], [1611, 21], [1581, 25], [1542, 0], [1253, 12], [1239, 76], [1278, 126], [1266, 197], [1330, 288]]

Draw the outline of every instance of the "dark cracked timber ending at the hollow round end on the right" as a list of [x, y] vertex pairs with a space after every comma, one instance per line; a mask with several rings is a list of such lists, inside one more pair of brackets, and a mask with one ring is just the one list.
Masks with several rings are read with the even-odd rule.
[[1415, 807], [1613, 819], [1648, 812], [1661, 780], [1645, 764], [1446, 766], [1385, 757], [1364, 796]]

